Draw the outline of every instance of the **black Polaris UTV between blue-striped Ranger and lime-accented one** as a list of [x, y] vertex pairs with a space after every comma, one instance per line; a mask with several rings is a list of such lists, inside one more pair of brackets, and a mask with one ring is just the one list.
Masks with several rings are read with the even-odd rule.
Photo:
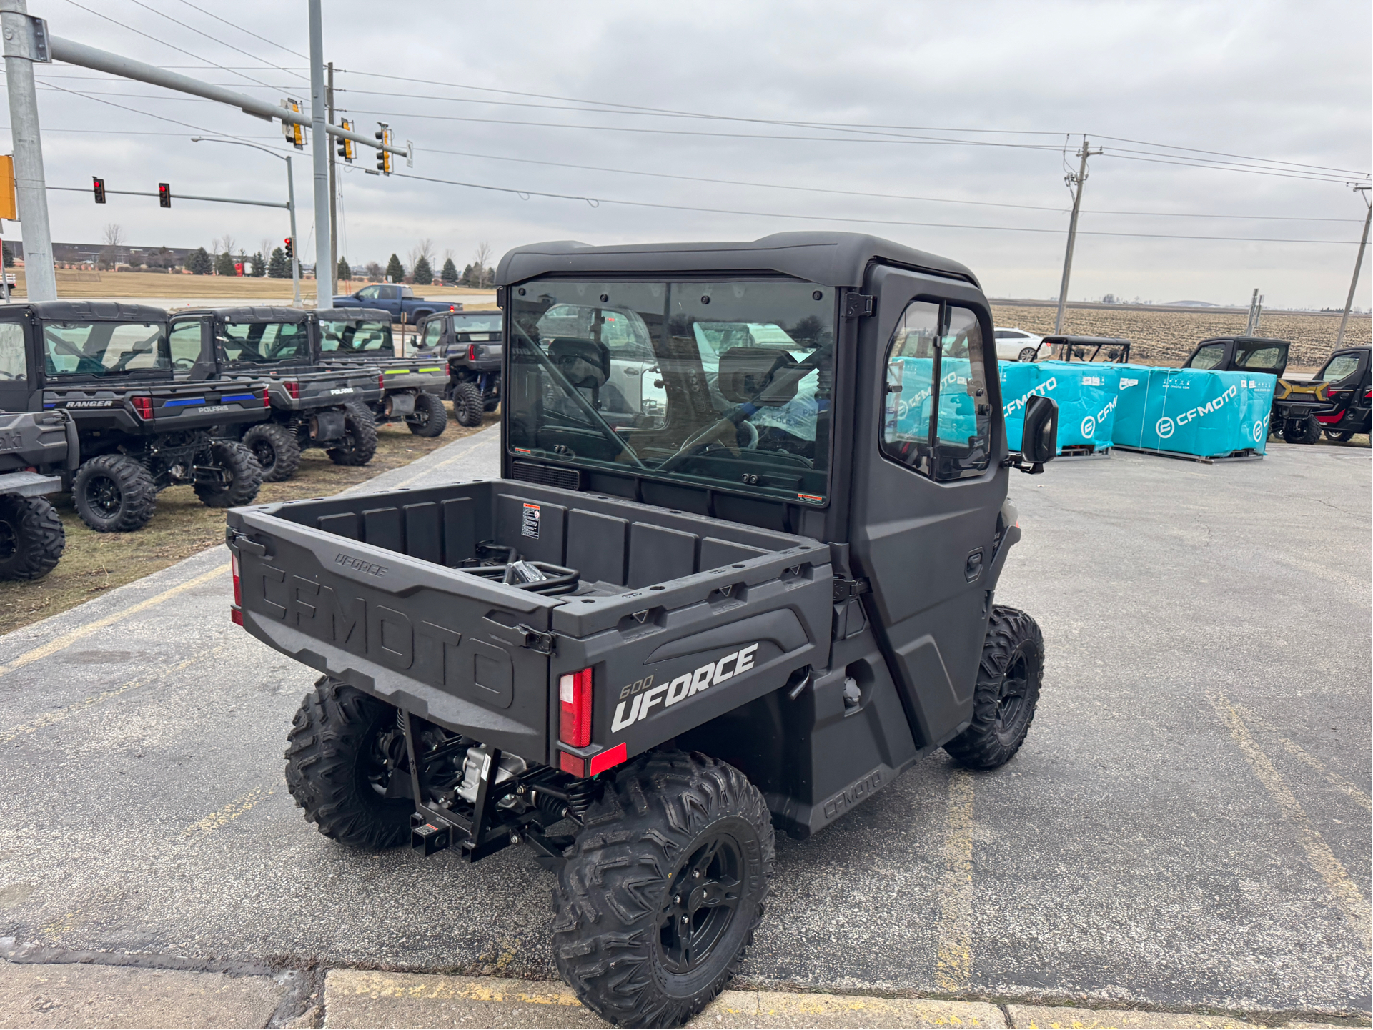
[[339, 466], [365, 466], [376, 452], [371, 405], [380, 400], [375, 368], [327, 367], [312, 312], [294, 308], [211, 308], [172, 317], [172, 357], [188, 382], [265, 379], [270, 417], [242, 433], [262, 479], [295, 475], [301, 450], [320, 446]]

